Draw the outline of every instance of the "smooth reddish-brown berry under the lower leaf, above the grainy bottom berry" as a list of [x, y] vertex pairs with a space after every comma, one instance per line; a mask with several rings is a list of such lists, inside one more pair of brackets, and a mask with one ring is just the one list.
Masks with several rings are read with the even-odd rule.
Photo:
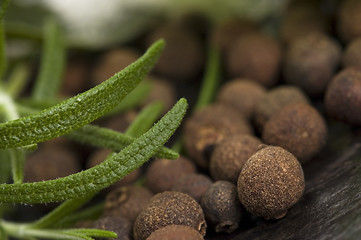
[[196, 171], [194, 163], [182, 156], [176, 160], [155, 159], [145, 172], [145, 185], [154, 193], [168, 191], [178, 178]]

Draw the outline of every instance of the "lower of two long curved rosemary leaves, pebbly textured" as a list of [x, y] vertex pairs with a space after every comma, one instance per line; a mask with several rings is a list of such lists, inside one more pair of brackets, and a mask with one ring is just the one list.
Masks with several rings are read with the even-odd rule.
[[0, 203], [48, 203], [79, 198], [110, 186], [144, 164], [174, 133], [186, 112], [178, 103], [142, 136], [88, 170], [49, 181], [0, 184]]

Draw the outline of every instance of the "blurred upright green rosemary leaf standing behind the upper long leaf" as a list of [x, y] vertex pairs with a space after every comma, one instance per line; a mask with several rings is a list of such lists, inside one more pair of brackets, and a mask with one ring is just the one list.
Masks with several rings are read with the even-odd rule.
[[34, 99], [54, 98], [58, 93], [66, 55], [63, 35], [55, 19], [45, 21], [40, 72], [32, 93]]

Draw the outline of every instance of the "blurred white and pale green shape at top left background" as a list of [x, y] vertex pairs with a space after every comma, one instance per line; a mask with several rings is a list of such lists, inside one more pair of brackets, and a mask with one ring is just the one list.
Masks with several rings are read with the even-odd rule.
[[103, 47], [131, 40], [160, 14], [159, 0], [43, 0], [63, 22], [68, 40]]

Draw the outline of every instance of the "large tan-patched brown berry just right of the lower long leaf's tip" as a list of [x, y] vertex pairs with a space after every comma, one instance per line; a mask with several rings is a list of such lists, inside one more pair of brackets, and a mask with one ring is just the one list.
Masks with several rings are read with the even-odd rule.
[[209, 150], [232, 134], [252, 134], [245, 118], [234, 108], [211, 104], [190, 116], [184, 127], [184, 144], [189, 156], [202, 168], [208, 168]]

